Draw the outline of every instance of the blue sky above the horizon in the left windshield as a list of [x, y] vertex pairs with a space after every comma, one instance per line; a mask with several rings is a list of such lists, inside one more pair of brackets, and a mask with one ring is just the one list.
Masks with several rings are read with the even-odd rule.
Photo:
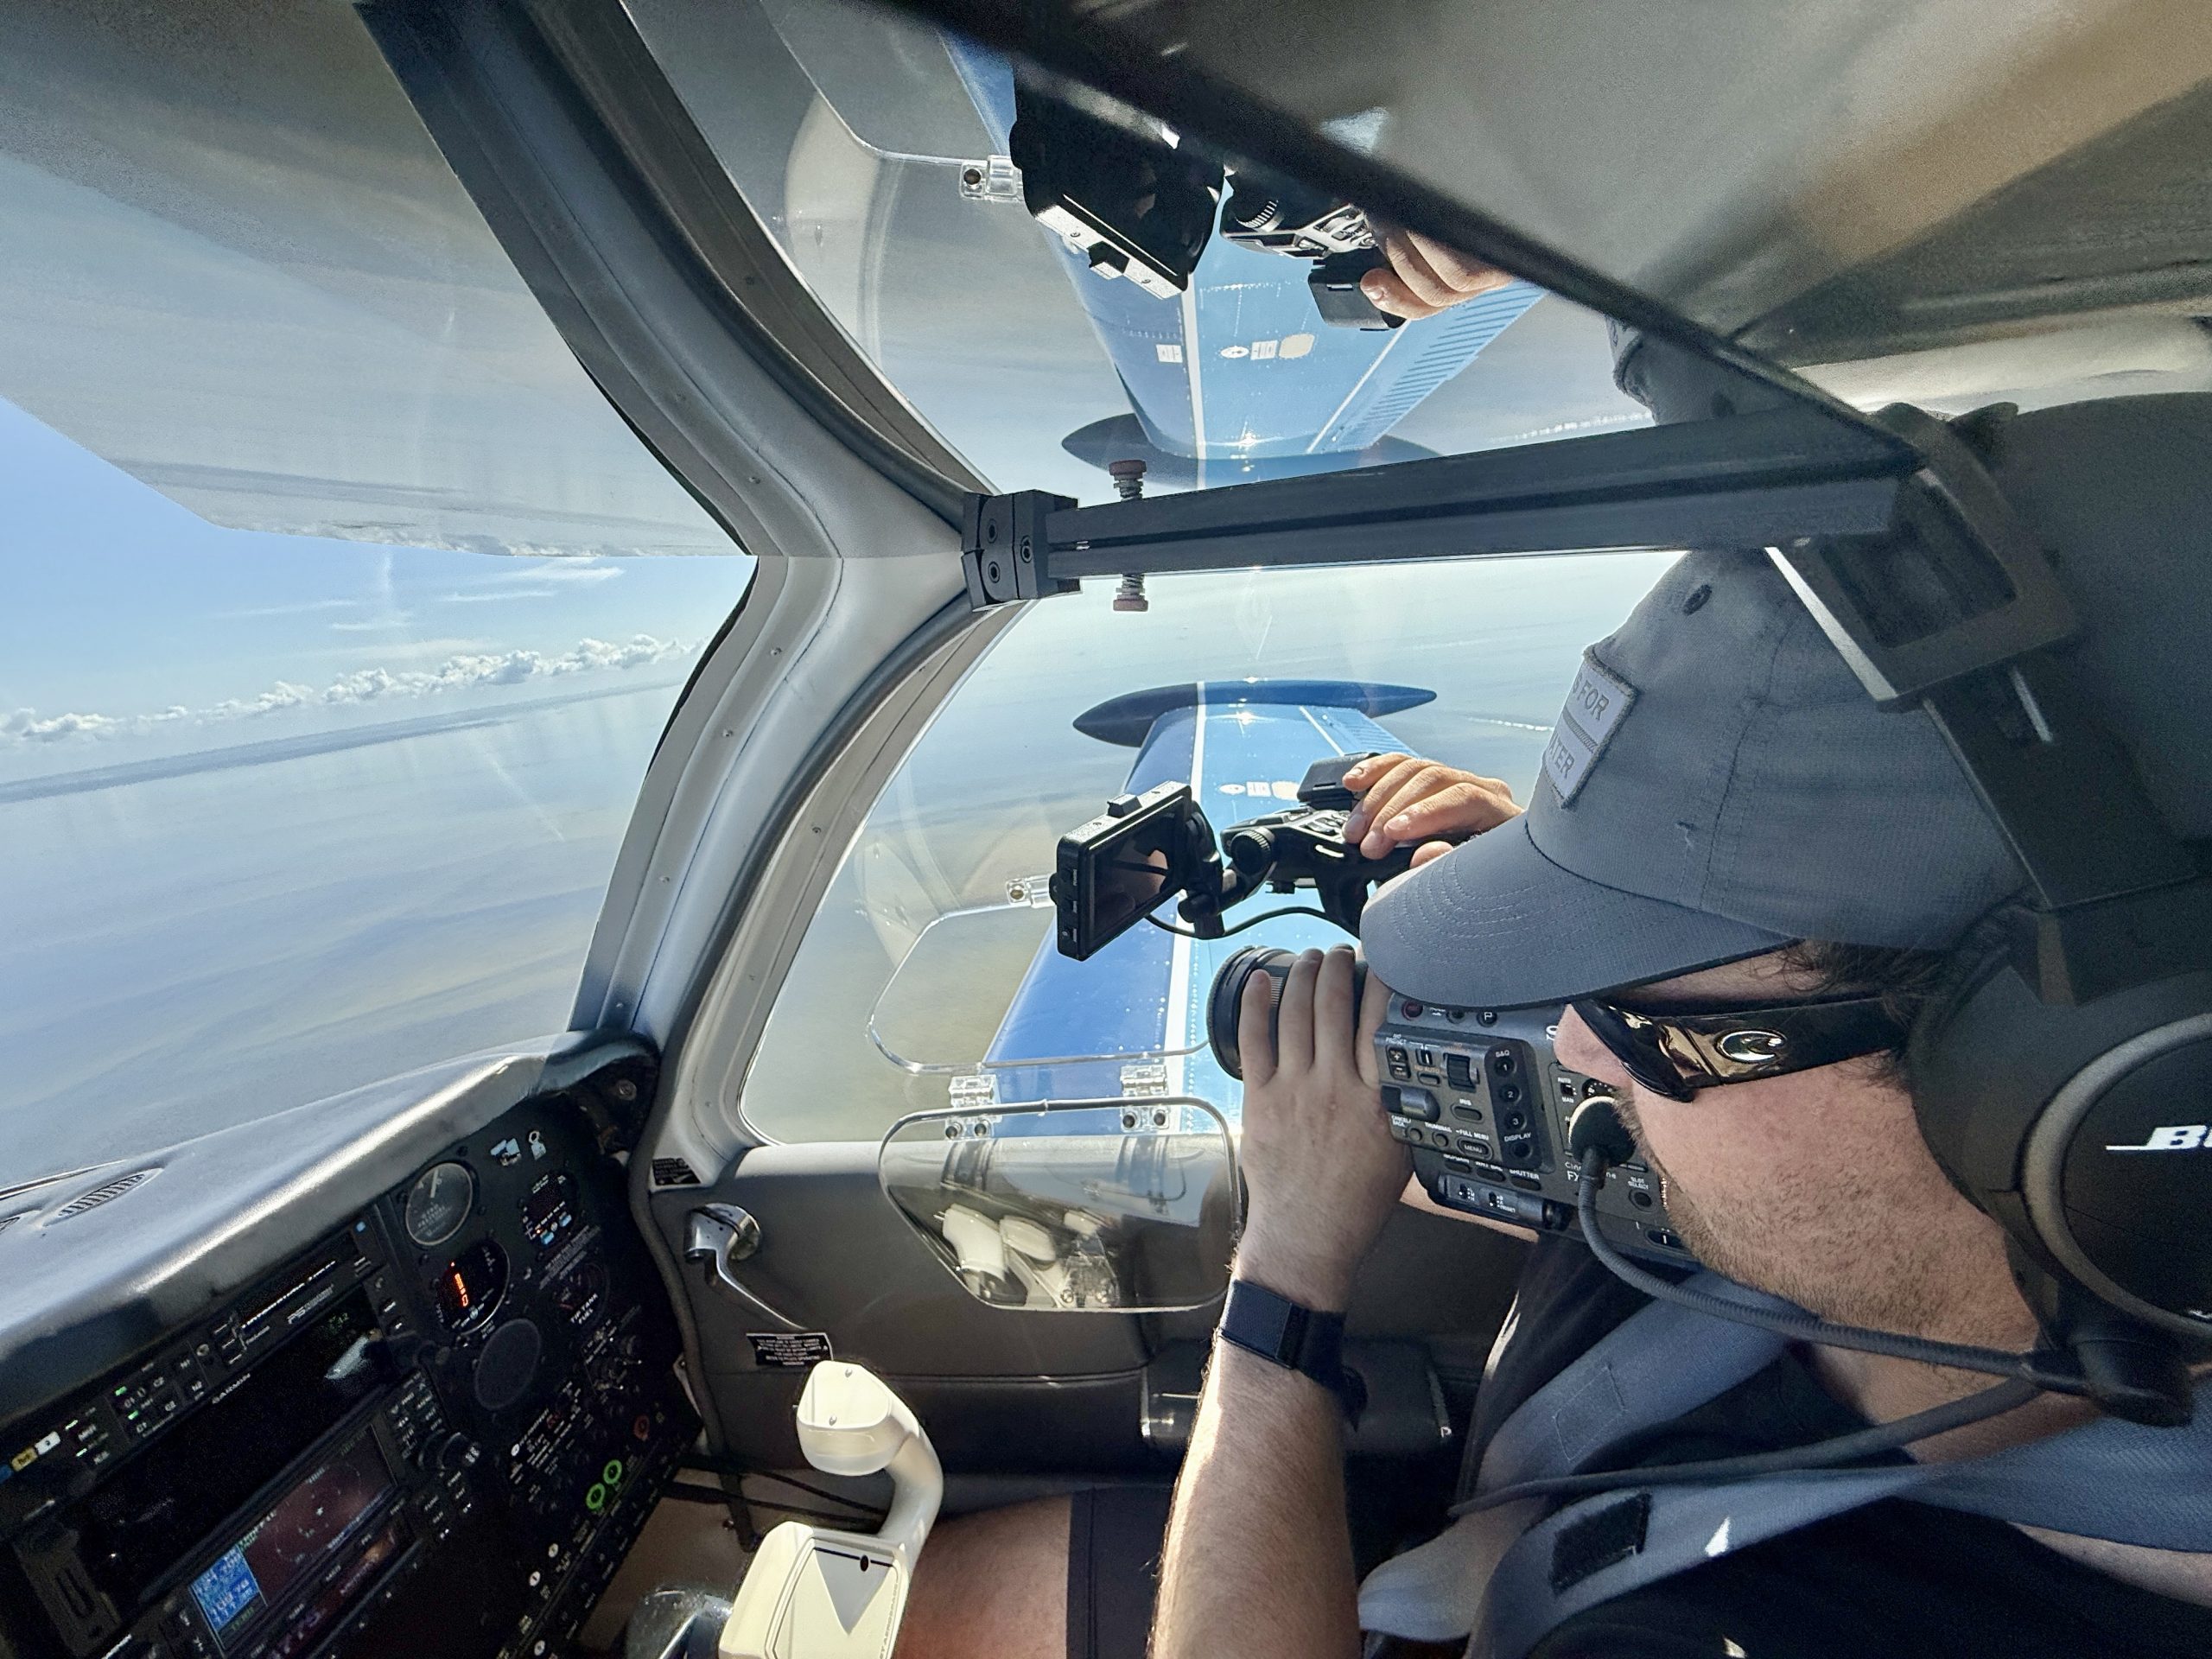
[[[442, 675], [431, 688], [445, 706], [445, 692], [520, 684], [562, 664], [613, 675], [595, 664], [626, 657], [677, 675], [750, 568], [741, 555], [500, 557], [221, 529], [9, 403], [0, 493], [0, 723], [15, 717], [18, 732], [20, 710], [38, 721], [142, 721], [252, 703], [279, 684], [338, 712], [347, 699], [321, 699], [345, 684], [422, 688]], [[666, 650], [624, 653], [639, 637]], [[582, 641], [615, 653], [577, 655]], [[504, 666], [449, 668], [487, 657]], [[283, 712], [296, 719], [299, 706]], [[226, 723], [175, 721], [197, 745], [248, 737], [215, 730]], [[117, 759], [113, 745], [128, 737], [40, 743], [40, 770]], [[9, 748], [24, 745], [0, 734], [0, 757]]]

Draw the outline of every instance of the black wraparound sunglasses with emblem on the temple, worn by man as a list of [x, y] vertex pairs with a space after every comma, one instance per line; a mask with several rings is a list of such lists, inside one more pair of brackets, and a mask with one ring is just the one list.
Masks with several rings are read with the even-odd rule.
[[1577, 998], [1575, 1013], [1639, 1084], [1666, 1099], [1699, 1088], [1787, 1077], [1896, 1048], [1907, 1026], [1882, 998], [1781, 1002], [1765, 1009], [1624, 1009]]

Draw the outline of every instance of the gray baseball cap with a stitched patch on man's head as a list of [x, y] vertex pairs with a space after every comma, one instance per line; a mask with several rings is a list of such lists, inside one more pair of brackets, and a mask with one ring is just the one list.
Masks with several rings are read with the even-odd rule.
[[[1989, 462], [2090, 701], [2212, 834], [2212, 396], [2015, 416]], [[1763, 551], [1701, 551], [1584, 655], [1528, 812], [1383, 887], [1360, 945], [1422, 1002], [1562, 1002], [1798, 938], [1942, 949], [2022, 880], [1933, 721], [1878, 710]]]

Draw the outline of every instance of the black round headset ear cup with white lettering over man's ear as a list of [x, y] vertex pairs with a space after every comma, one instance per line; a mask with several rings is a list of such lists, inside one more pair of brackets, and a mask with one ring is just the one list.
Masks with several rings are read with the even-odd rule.
[[2031, 1261], [2212, 1338], [2212, 973], [2051, 1006], [2002, 949], [1971, 949], [1907, 1075], [1936, 1161]]

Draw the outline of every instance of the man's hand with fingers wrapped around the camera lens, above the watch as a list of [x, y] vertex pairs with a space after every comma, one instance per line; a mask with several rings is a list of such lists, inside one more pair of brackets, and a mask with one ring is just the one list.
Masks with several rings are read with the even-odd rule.
[[1343, 1312], [1352, 1272], [1405, 1188], [1409, 1159], [1391, 1139], [1374, 1033], [1389, 989], [1369, 975], [1354, 1011], [1352, 947], [1305, 951], [1283, 984], [1281, 1040], [1267, 1035], [1272, 980], [1245, 982], [1245, 1230], [1237, 1272], [1305, 1307]]

